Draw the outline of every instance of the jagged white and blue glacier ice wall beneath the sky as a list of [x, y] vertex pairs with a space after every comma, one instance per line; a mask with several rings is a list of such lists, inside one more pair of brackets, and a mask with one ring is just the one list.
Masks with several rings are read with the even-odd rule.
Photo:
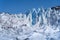
[[60, 40], [59, 10], [38, 8], [26, 14], [0, 13], [0, 40]]

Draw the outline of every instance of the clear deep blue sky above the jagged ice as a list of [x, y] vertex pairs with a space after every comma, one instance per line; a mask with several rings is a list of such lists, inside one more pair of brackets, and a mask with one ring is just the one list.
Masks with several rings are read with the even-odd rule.
[[0, 0], [0, 12], [20, 13], [32, 8], [59, 6], [60, 0]]

